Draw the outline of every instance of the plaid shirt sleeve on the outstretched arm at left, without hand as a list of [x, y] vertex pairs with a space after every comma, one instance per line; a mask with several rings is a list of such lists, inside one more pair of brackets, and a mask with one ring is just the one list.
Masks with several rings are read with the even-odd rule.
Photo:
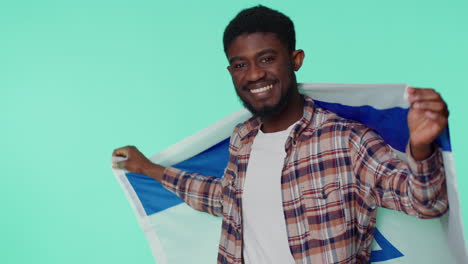
[[223, 179], [188, 173], [173, 167], [164, 170], [162, 185], [195, 210], [222, 215]]

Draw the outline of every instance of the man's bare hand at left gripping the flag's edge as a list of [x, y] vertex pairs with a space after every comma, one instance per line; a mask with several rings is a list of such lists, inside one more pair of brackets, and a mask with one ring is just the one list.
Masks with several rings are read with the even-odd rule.
[[164, 167], [152, 163], [134, 146], [115, 149], [112, 156], [126, 158], [126, 160], [113, 162], [112, 168], [125, 169], [133, 173], [150, 176], [158, 181], [162, 180]]

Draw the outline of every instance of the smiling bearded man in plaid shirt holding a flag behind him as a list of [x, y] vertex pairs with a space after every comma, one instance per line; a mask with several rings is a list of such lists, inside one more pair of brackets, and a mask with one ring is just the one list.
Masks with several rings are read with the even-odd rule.
[[447, 210], [434, 139], [447, 108], [430, 89], [409, 89], [408, 163], [372, 130], [299, 94], [292, 21], [263, 6], [224, 32], [234, 87], [253, 117], [231, 137], [222, 179], [151, 163], [116, 149], [114, 166], [148, 175], [188, 205], [223, 217], [218, 263], [368, 263], [378, 206], [420, 218]]

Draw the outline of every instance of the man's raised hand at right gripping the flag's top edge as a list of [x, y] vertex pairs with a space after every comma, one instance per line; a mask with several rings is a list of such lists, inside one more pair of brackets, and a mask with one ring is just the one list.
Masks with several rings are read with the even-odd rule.
[[448, 110], [439, 93], [433, 89], [408, 88], [408, 113], [411, 154], [416, 160], [428, 158], [433, 142], [447, 126]]

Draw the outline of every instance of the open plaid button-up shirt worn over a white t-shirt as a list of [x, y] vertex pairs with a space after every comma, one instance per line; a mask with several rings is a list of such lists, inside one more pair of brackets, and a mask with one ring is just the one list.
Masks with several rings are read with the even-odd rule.
[[[163, 185], [196, 210], [223, 217], [218, 263], [242, 263], [242, 190], [260, 121], [239, 124], [222, 179], [167, 168]], [[419, 218], [448, 207], [439, 151], [405, 163], [379, 135], [305, 98], [285, 144], [281, 187], [296, 263], [368, 263], [378, 206]], [[407, 153], [409, 153], [407, 148]]]

